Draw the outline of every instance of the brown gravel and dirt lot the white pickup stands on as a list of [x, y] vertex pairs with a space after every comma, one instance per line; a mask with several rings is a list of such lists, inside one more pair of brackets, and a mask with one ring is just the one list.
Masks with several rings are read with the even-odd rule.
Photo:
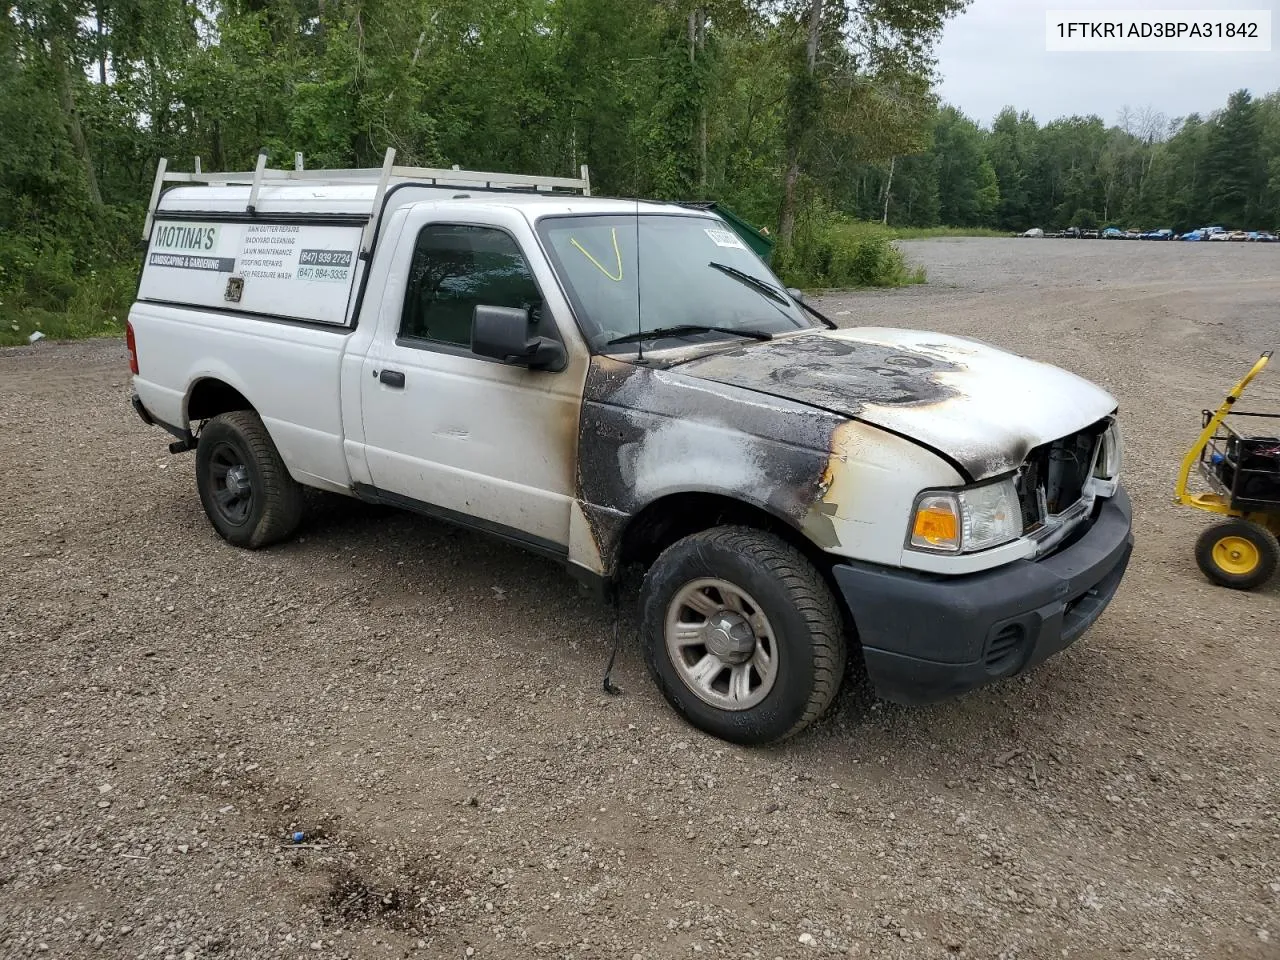
[[823, 306], [1110, 388], [1135, 559], [1030, 676], [769, 750], [634, 643], [600, 692], [608, 616], [513, 549], [356, 503], [227, 547], [120, 343], [0, 351], [0, 956], [1280, 956], [1280, 585], [1210, 586], [1169, 502], [1280, 247], [908, 248]]

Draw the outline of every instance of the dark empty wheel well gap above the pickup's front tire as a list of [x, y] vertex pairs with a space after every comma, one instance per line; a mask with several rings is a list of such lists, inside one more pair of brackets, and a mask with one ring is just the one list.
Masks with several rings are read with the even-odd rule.
[[732, 497], [713, 493], [678, 493], [654, 500], [641, 509], [622, 534], [618, 570], [640, 566], [648, 570], [658, 554], [677, 540], [716, 526], [749, 526], [764, 530], [795, 547], [832, 586], [832, 558], [786, 521]]

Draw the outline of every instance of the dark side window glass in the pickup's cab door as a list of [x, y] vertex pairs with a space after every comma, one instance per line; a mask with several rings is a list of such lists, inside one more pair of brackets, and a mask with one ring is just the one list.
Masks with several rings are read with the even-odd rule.
[[413, 244], [399, 335], [470, 347], [481, 303], [525, 307], [538, 320], [541, 296], [516, 241], [492, 227], [424, 227]]

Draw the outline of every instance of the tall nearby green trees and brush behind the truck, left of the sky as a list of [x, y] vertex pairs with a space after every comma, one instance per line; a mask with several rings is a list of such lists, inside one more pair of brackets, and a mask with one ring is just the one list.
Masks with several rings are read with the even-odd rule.
[[[604, 193], [708, 197], [776, 225], [788, 143], [814, 201], [847, 164], [927, 145], [932, 42], [963, 5], [17, 0], [0, 18], [0, 337], [119, 328], [160, 156], [585, 163]], [[883, 244], [829, 247], [824, 273], [893, 274]]]

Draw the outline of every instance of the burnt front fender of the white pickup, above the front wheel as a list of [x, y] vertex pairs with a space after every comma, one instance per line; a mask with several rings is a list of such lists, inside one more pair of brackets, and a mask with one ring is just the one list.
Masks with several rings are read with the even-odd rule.
[[745, 387], [593, 358], [571, 561], [605, 577], [628, 524], [672, 494], [767, 511], [836, 556], [897, 564], [916, 493], [963, 477], [895, 434]]

